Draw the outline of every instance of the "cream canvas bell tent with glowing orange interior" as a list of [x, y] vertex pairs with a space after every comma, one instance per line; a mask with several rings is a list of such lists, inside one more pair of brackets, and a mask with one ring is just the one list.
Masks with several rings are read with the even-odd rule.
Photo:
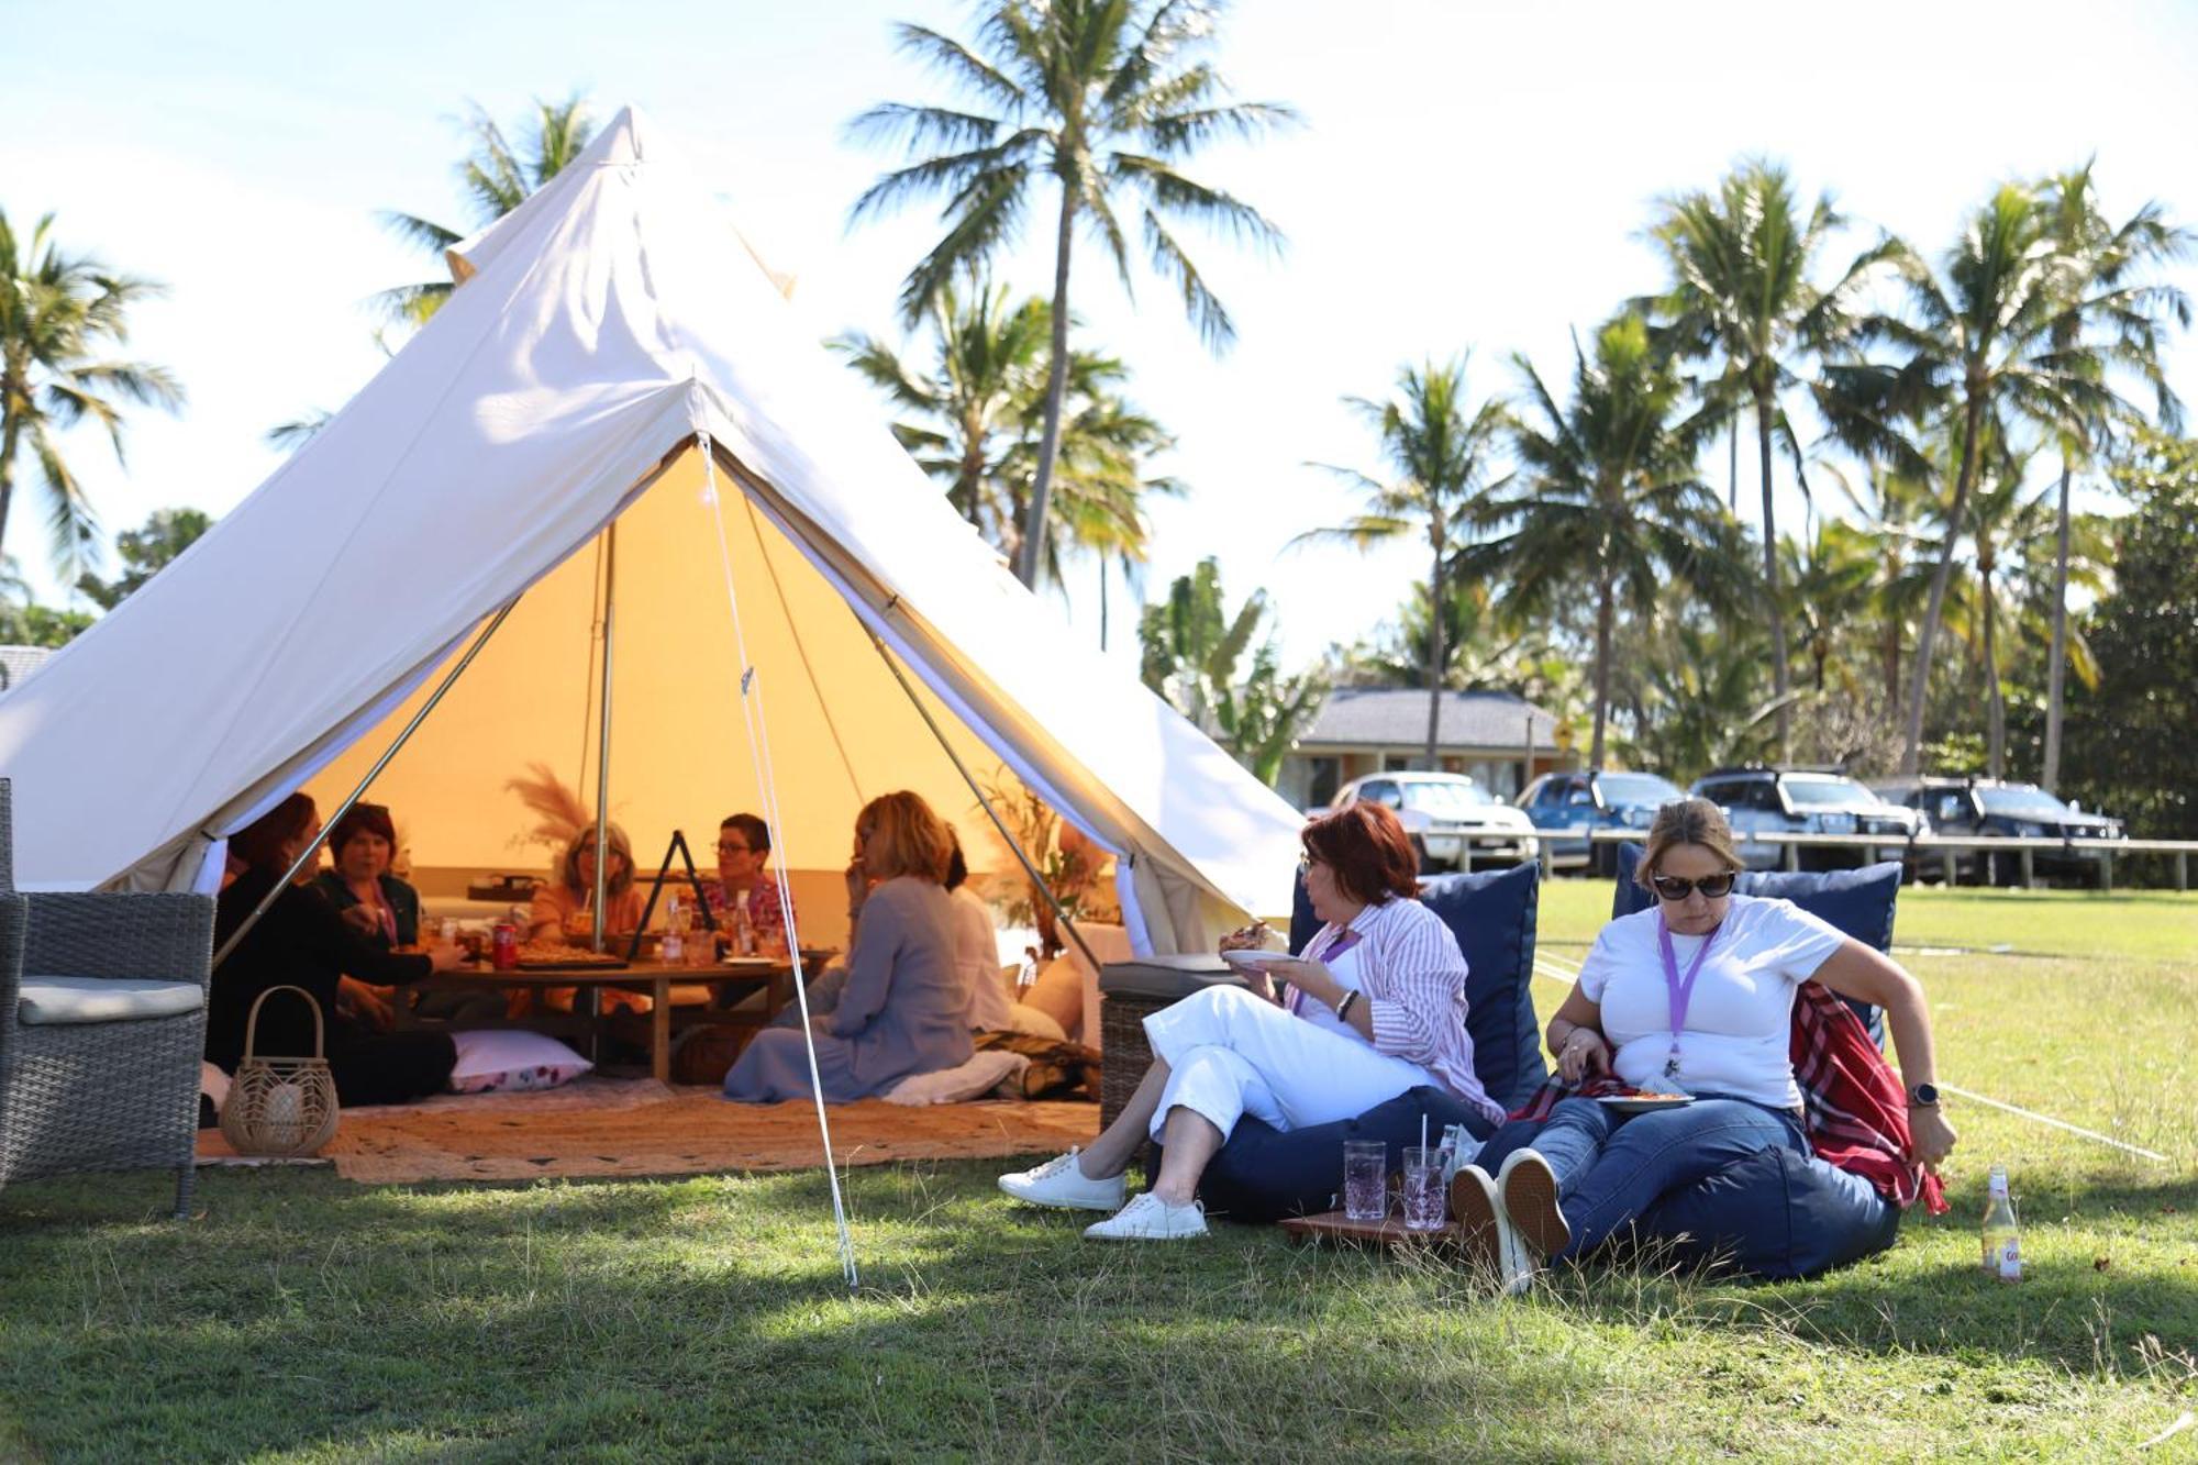
[[1013, 768], [1130, 856], [1141, 946], [1286, 908], [1297, 814], [1062, 634], [644, 119], [459, 253], [464, 288], [306, 449], [0, 700], [24, 884], [200, 882], [290, 787], [347, 787], [528, 592], [374, 794], [415, 862], [508, 864], [503, 779], [580, 750], [589, 546], [618, 519], [611, 812], [646, 860], [754, 792], [730, 563], [793, 862], [835, 867], [886, 787], [976, 829], [875, 631], [980, 776]]

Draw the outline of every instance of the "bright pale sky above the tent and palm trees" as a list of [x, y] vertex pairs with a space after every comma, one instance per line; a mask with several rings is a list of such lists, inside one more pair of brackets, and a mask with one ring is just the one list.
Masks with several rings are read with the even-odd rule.
[[[642, 106], [798, 277], [820, 339], [886, 332], [934, 222], [910, 211], [846, 231], [890, 158], [844, 125], [873, 101], [939, 97], [895, 55], [890, 22], [961, 31], [969, 15], [934, 0], [0, 0], [0, 207], [18, 224], [57, 211], [75, 249], [171, 286], [138, 315], [134, 350], [174, 367], [191, 407], [141, 418], [127, 473], [101, 442], [73, 444], [110, 528], [171, 504], [231, 508], [277, 462], [270, 425], [338, 407], [378, 370], [363, 301], [429, 266], [374, 211], [464, 222], [453, 165], [468, 99], [499, 119], [571, 90], [604, 114]], [[1090, 251], [1075, 308], [1180, 440], [1165, 466], [1191, 497], [1156, 517], [1150, 585], [1220, 554], [1233, 594], [1270, 592], [1292, 656], [1372, 631], [1422, 574], [1409, 548], [1284, 550], [1352, 510], [1308, 460], [1378, 471], [1341, 398], [1385, 396], [1402, 363], [1466, 348], [1475, 392], [1514, 385], [1512, 352], [1556, 385], [1569, 332], [1657, 284], [1640, 240], [1653, 200], [1714, 183], [1741, 154], [1835, 191], [1860, 224], [1846, 251], [1888, 227], [1936, 253], [1996, 180], [2088, 154], [2117, 216], [2161, 198], [2198, 220], [2198, 7], [2174, 0], [1244, 0], [1222, 59], [1242, 97], [1288, 101], [1308, 123], [1196, 167], [1290, 235], [1281, 260], [1196, 249], [1237, 319], [1235, 350], [1207, 354], [1158, 279], [1141, 277], [1132, 301]], [[1029, 240], [1004, 275], [1044, 288], [1048, 246]], [[2198, 293], [2198, 271], [2180, 284]], [[2198, 398], [2187, 341], [2172, 374]], [[29, 497], [9, 548], [51, 601]], [[1798, 495], [1778, 513], [1798, 524]], [[1097, 636], [1092, 572], [1070, 576], [1064, 609]]]

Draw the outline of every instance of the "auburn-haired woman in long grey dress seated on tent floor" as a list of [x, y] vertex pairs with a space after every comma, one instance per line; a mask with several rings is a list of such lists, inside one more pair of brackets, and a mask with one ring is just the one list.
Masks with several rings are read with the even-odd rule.
[[[870, 1098], [910, 1073], [969, 1062], [969, 990], [954, 963], [954, 904], [945, 891], [947, 827], [917, 794], [884, 794], [855, 816], [846, 871], [846, 974], [822, 1007], [811, 990], [824, 1102]], [[809, 1095], [800, 1027], [756, 1034], [725, 1073], [725, 1098], [774, 1104]]]

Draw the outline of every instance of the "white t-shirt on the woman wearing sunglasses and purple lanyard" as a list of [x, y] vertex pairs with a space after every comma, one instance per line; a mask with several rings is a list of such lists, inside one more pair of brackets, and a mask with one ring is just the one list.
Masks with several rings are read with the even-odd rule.
[[[1732, 895], [1717, 944], [1701, 963], [1670, 1058], [1670, 996], [1657, 952], [1659, 911], [1622, 915], [1602, 928], [1580, 963], [1580, 992], [1602, 1007], [1618, 1078], [1642, 1089], [1686, 1089], [1791, 1109], [1800, 1104], [1789, 1058], [1794, 988], [1809, 981], [1846, 937], [1791, 900]], [[1679, 979], [1706, 937], [1673, 935]]]

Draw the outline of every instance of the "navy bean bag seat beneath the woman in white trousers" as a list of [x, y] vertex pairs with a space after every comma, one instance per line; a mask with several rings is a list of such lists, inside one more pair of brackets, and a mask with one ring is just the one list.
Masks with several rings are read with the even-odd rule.
[[[1433, 1084], [1407, 1089], [1356, 1120], [1288, 1133], [1244, 1115], [1229, 1133], [1229, 1144], [1198, 1179], [1198, 1199], [1207, 1203], [1211, 1214], [1231, 1221], [1317, 1216], [1339, 1203], [1345, 1139], [1385, 1142], [1394, 1170], [1405, 1164], [1405, 1146], [1420, 1144], [1422, 1117], [1429, 1142], [1442, 1137], [1444, 1124], [1464, 1124], [1475, 1137], [1486, 1137], [1490, 1128], [1488, 1120]], [[1150, 1175], [1161, 1172], [1161, 1146], [1152, 1148], [1150, 1166]]]

